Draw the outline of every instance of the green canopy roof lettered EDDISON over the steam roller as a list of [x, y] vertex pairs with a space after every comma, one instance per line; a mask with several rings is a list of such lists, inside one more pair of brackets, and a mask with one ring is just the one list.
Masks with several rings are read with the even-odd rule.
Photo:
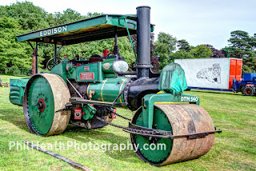
[[[127, 22], [127, 25], [125, 24]], [[91, 42], [105, 38], [114, 38], [116, 26], [118, 37], [127, 36], [126, 26], [130, 35], [136, 34], [136, 15], [103, 14], [94, 18], [86, 18], [60, 26], [17, 35], [17, 41], [46, 42], [58, 45], [72, 45], [80, 42]], [[154, 31], [154, 25], [150, 25]]]

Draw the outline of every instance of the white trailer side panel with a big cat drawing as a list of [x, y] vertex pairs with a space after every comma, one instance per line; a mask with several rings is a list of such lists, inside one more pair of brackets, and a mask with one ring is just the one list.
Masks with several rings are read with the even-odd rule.
[[188, 86], [229, 89], [230, 58], [175, 59], [186, 74]]

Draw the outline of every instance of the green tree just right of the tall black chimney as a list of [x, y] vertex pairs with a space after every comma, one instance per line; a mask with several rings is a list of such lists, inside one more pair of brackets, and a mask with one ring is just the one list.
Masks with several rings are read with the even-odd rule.
[[160, 69], [170, 64], [172, 51], [176, 50], [177, 39], [170, 34], [160, 32], [158, 40], [154, 43], [154, 55], [158, 57]]

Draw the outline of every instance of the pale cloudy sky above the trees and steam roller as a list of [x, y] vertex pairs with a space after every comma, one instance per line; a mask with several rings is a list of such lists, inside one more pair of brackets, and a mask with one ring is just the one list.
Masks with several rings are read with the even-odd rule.
[[[0, 6], [24, 0], [0, 0]], [[67, 8], [82, 15], [88, 12], [104, 14], [136, 14], [137, 6], [151, 7], [151, 23], [155, 39], [159, 32], [186, 39], [191, 46], [209, 44], [216, 49], [228, 46], [230, 32], [256, 34], [255, 0], [26, 0], [48, 13]]]

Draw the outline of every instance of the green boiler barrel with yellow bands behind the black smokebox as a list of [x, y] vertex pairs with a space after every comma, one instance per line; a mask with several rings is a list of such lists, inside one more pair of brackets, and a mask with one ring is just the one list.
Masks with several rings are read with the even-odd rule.
[[[87, 88], [87, 96], [89, 96], [90, 90], [94, 90], [95, 93], [92, 96], [92, 100], [112, 102], [122, 92], [126, 82], [129, 80], [130, 78], [124, 77], [106, 78], [103, 82], [90, 84]], [[124, 102], [123, 95], [118, 98], [117, 102]]]

